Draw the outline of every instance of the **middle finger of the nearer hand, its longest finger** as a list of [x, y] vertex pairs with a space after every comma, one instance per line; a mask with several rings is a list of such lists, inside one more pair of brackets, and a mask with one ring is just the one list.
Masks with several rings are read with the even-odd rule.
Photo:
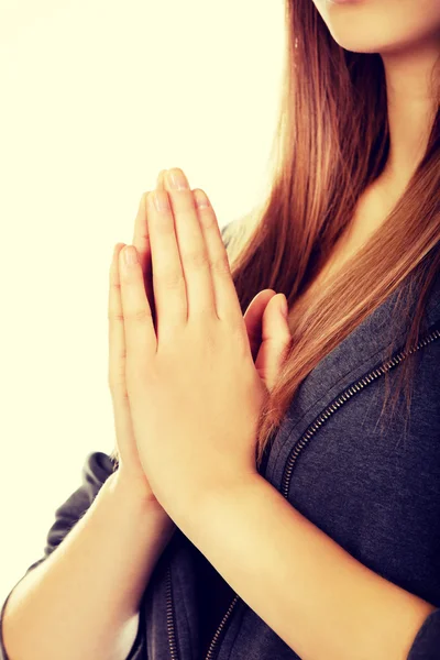
[[[174, 187], [175, 176], [182, 179], [182, 187]], [[186, 284], [188, 319], [191, 315], [216, 314], [216, 297], [205, 237], [200, 227], [193, 190], [178, 167], [168, 169], [165, 188], [169, 197], [182, 268]]]

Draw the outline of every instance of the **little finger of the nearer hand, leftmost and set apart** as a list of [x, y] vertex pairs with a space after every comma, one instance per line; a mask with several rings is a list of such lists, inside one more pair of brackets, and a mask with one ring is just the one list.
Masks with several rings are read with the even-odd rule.
[[[133, 254], [133, 263], [127, 263], [128, 253]], [[139, 374], [156, 352], [156, 333], [136, 249], [125, 245], [119, 253], [118, 264], [127, 350], [125, 373]]]

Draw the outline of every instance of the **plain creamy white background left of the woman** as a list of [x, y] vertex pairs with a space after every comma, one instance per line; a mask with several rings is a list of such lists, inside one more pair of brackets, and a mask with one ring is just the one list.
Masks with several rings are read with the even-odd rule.
[[113, 448], [114, 244], [163, 168], [261, 199], [284, 47], [283, 0], [0, 0], [1, 603]]

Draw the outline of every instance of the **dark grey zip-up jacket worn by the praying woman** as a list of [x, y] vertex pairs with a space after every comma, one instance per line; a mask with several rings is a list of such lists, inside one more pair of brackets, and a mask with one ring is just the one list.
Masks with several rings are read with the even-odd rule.
[[[440, 277], [415, 346], [406, 433], [402, 415], [380, 420], [384, 374], [389, 372], [393, 387], [408, 359], [403, 352], [408, 320], [393, 315], [399, 290], [302, 382], [261, 472], [355, 559], [437, 607], [408, 656], [433, 660], [440, 659]], [[387, 361], [389, 346], [394, 352]], [[87, 457], [80, 487], [56, 509], [44, 557], [26, 573], [62, 542], [111, 473], [106, 453]], [[144, 591], [138, 637], [127, 660], [201, 660], [196, 554], [177, 530]], [[224, 615], [207, 660], [299, 658], [239, 595]], [[1, 618], [0, 659], [9, 660]]]

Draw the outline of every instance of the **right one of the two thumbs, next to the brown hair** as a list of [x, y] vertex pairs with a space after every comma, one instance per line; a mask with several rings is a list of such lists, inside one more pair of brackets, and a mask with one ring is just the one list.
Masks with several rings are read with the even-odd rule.
[[284, 315], [284, 294], [277, 294], [268, 301], [263, 315], [262, 344], [255, 361], [255, 369], [271, 391], [277, 380], [285, 351], [292, 341], [287, 317]]

